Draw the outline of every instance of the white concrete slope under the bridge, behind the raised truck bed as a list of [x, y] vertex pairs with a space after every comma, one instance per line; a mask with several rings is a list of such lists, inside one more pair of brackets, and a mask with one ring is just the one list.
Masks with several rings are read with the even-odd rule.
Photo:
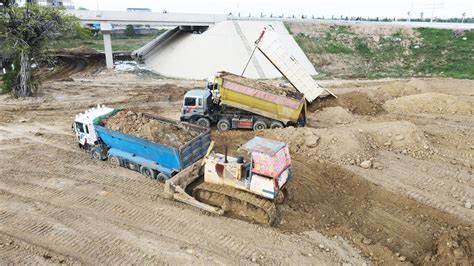
[[[205, 79], [217, 71], [240, 74], [264, 27], [271, 25], [279, 40], [311, 75], [316, 70], [281, 21], [223, 21], [202, 34], [178, 31], [158, 45], [143, 47], [141, 59], [155, 72], [169, 77]], [[152, 50], [148, 50], [153, 47]], [[245, 71], [249, 78], [279, 78], [280, 72], [256, 51]]]

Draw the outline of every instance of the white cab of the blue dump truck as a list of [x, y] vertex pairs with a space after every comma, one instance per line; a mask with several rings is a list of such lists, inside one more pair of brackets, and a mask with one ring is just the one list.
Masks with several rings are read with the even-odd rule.
[[79, 147], [89, 150], [91, 146], [94, 146], [98, 139], [94, 129], [94, 119], [113, 110], [113, 108], [105, 107], [104, 105], [97, 105], [97, 107], [90, 108], [84, 113], [76, 115], [72, 128], [76, 134]]

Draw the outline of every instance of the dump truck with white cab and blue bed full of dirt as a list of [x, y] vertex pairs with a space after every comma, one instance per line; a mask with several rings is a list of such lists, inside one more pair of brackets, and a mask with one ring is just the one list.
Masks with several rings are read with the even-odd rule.
[[[131, 117], [124, 120], [124, 127], [109, 127], [109, 119], [130, 113]], [[161, 180], [171, 178], [206, 154], [211, 142], [209, 129], [151, 114], [140, 113], [140, 117], [136, 117], [136, 114], [129, 110], [98, 106], [76, 115], [73, 130], [79, 147], [89, 151], [96, 159], [108, 160], [149, 178]], [[137, 124], [143, 121], [153, 124], [154, 128], [148, 129], [150, 136], [159, 133], [160, 129], [168, 132], [152, 140], [150, 136], [140, 135], [139, 132], [127, 134], [130, 127], [128, 131], [122, 130], [130, 126], [126, 123], [132, 123], [133, 131], [134, 121], [138, 121]], [[178, 133], [185, 135], [185, 138], [177, 138], [175, 134]]]

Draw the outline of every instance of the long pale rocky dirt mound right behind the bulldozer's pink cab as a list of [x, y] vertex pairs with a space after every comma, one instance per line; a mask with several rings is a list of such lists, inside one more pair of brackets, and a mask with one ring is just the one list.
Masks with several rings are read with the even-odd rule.
[[265, 137], [288, 142], [294, 154], [339, 164], [373, 160], [379, 149], [414, 158], [434, 153], [431, 143], [416, 125], [407, 121], [353, 123], [335, 128], [284, 128], [267, 130]]

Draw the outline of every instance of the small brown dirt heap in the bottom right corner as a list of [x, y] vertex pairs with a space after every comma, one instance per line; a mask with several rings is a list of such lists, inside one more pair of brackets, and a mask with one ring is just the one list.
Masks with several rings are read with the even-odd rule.
[[445, 232], [439, 237], [436, 253], [427, 255], [424, 258], [425, 264], [437, 265], [472, 265], [471, 251], [474, 250], [474, 243], [469, 239], [456, 233]]

